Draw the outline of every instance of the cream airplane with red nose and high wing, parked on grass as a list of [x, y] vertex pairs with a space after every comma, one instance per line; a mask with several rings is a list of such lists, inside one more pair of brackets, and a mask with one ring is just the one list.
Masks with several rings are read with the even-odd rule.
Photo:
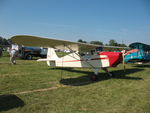
[[[102, 51], [104, 46], [58, 40], [52, 38], [41, 38], [29, 35], [16, 35], [11, 40], [19, 45], [48, 48], [47, 58], [37, 61], [46, 61], [48, 66], [53, 67], [85, 67], [91, 68], [94, 74], [92, 80], [97, 80], [100, 69], [113, 76], [107, 68], [116, 67], [123, 60], [124, 52]], [[116, 48], [114, 46], [107, 46]], [[122, 47], [117, 47], [122, 48]], [[58, 57], [55, 49], [70, 51], [68, 55]]]

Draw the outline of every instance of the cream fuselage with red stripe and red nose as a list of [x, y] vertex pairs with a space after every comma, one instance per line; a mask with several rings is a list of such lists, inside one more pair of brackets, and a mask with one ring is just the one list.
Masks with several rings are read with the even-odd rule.
[[[54, 55], [54, 53], [53, 53]], [[64, 57], [51, 58], [47, 61], [49, 66], [58, 67], [115, 67], [122, 61], [121, 52], [95, 52], [79, 55], [77, 53], [70, 53]]]

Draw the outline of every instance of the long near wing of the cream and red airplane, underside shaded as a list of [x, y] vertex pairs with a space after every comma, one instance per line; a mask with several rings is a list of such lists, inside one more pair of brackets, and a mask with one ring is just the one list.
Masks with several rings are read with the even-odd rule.
[[14, 43], [24, 46], [35, 46], [35, 47], [52, 47], [56, 49], [65, 49], [72, 51], [89, 51], [100, 47], [100, 45], [71, 42], [65, 40], [58, 40], [52, 38], [41, 38], [37, 36], [29, 35], [17, 35], [13, 36], [11, 40]]

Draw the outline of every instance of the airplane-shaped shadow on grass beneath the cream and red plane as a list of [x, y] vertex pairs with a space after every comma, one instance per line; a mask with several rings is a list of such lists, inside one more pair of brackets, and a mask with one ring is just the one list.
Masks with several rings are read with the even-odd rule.
[[[57, 69], [86, 74], [85, 76], [80, 76], [77, 78], [61, 79], [60, 80], [61, 84], [71, 85], [71, 86], [82, 86], [82, 85], [94, 83], [92, 80], [90, 80], [91, 75], [94, 74], [93, 72], [73, 70], [72, 68], [57, 68]], [[126, 69], [125, 72], [124, 72], [124, 70], [116, 70], [116, 71], [113, 71], [113, 73], [114, 73], [113, 77], [107, 76], [106, 73], [100, 73], [98, 75], [98, 79], [96, 82], [100, 82], [100, 81], [104, 81], [104, 80], [108, 80], [108, 79], [142, 80], [142, 78], [140, 78], [140, 77], [130, 77], [130, 76], [126, 76], [126, 75], [131, 74], [131, 73], [136, 73], [139, 71], [143, 71], [143, 70], [144, 69]]]

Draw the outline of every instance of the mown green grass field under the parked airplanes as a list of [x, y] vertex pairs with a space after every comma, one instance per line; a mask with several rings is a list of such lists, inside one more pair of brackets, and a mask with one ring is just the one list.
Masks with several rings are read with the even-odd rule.
[[0, 57], [1, 113], [150, 113], [150, 64], [110, 68], [98, 81], [86, 68]]

